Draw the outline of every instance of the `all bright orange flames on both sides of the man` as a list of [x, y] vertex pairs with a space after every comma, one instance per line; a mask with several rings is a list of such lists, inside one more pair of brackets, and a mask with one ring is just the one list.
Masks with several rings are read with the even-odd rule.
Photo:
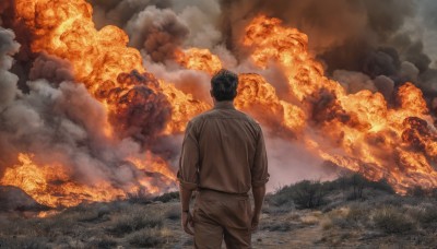
[[[83, 176], [86, 161], [47, 163], [28, 147], [5, 166], [0, 185], [16, 186], [48, 206], [110, 201], [138, 192], [157, 194], [175, 187], [176, 157], [168, 156], [172, 152], [163, 144], [180, 139], [187, 121], [212, 103], [193, 97], [196, 88], [182, 92], [149, 71], [119, 27], [96, 29], [93, 9], [84, 0], [15, 0], [14, 11], [14, 22], [29, 35], [32, 54], [68, 61], [74, 84], [83, 84], [104, 110], [102, 134], [86, 135], [83, 143], [91, 144], [86, 153], [94, 155], [93, 139], [104, 141], [110, 152], [99, 158], [114, 166], [103, 166], [102, 177], [91, 179]], [[400, 193], [415, 186], [436, 188], [435, 119], [421, 90], [405, 82], [395, 93], [395, 105], [378, 92], [349, 94], [308, 50], [310, 38], [279, 19], [258, 15], [248, 23], [239, 40], [249, 54], [247, 63], [257, 72], [274, 63], [287, 84], [279, 94], [262, 75], [241, 72], [236, 107], [273, 137], [298, 142], [315, 156], [370, 180], [385, 178]], [[221, 68], [239, 70], [205, 48], [181, 47], [173, 59], [173, 67], [199, 75], [211, 76]]]

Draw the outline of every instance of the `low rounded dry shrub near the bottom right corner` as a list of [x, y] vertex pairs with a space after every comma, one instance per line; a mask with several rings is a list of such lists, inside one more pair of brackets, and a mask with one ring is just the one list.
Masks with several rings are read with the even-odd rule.
[[398, 234], [414, 229], [414, 224], [409, 216], [393, 206], [383, 206], [373, 216], [375, 226], [387, 234]]

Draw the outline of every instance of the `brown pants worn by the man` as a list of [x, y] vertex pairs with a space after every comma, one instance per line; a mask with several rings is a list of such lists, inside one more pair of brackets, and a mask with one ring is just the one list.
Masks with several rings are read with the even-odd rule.
[[248, 194], [201, 190], [194, 203], [194, 248], [250, 248], [251, 208]]

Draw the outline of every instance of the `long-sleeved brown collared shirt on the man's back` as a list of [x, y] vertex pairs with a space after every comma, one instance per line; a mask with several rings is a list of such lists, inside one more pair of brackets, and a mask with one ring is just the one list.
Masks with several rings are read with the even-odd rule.
[[182, 188], [247, 193], [269, 180], [264, 139], [258, 122], [217, 102], [188, 122], [179, 162]]

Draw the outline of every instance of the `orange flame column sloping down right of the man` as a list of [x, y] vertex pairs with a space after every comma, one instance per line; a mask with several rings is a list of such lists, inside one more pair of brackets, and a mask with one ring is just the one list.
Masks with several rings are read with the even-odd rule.
[[305, 34], [265, 16], [256, 17], [244, 38], [258, 67], [268, 67], [269, 60], [280, 63], [290, 93], [310, 104], [310, 109], [303, 109], [312, 118], [307, 122], [316, 121], [316, 130], [323, 135], [305, 135], [305, 144], [322, 158], [371, 180], [387, 178], [398, 192], [413, 186], [436, 188], [437, 171], [432, 164], [437, 133], [422, 92], [411, 83], [401, 86], [399, 108], [388, 107], [379, 93], [347, 95], [340, 83], [323, 75], [307, 43]]

